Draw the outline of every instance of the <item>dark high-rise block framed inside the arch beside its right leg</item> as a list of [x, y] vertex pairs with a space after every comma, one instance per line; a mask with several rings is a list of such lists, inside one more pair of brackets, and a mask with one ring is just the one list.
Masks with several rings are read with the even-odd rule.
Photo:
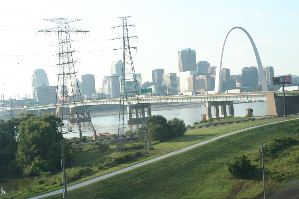
[[257, 67], [244, 67], [242, 68], [243, 87], [253, 87], [255, 89], [258, 86], [259, 75]]

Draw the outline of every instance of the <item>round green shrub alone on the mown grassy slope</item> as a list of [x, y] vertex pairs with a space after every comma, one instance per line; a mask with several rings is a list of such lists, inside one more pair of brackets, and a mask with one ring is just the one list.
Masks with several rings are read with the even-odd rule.
[[250, 160], [244, 154], [239, 157], [234, 157], [231, 163], [225, 163], [230, 172], [236, 178], [246, 178], [251, 175], [255, 166], [250, 164]]

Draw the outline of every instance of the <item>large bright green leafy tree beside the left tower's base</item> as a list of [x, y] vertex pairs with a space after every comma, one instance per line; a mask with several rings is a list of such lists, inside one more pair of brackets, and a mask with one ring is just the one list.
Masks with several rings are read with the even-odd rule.
[[[33, 175], [60, 169], [60, 143], [63, 136], [59, 129], [62, 125], [61, 118], [51, 114], [30, 117], [20, 123], [16, 161], [24, 174]], [[69, 156], [68, 146], [65, 148], [66, 156]]]

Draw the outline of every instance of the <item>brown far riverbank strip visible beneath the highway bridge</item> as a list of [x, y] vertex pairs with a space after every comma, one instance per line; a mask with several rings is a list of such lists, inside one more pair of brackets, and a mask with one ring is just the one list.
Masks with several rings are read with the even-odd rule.
[[[152, 106], [152, 111], [161, 111], [161, 110], [172, 110], [172, 109], [184, 109], [192, 107], [203, 106], [204, 103], [192, 103], [192, 104], [174, 104], [174, 105], [164, 105], [164, 106]], [[91, 117], [97, 116], [107, 116], [107, 115], [119, 115], [119, 110], [105, 110], [105, 111], [93, 111], [90, 112]]]

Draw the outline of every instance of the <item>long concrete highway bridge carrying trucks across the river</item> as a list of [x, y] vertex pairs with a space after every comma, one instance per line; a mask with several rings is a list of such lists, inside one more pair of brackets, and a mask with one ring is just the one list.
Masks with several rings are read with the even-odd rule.
[[[286, 92], [286, 112], [287, 114], [299, 113], [299, 91]], [[234, 94], [212, 94], [212, 95], [196, 95], [196, 96], [163, 96], [163, 97], [146, 97], [141, 98], [143, 109], [147, 109], [147, 115], [151, 115], [151, 104], [179, 104], [179, 103], [195, 103], [203, 102], [206, 105], [206, 117], [207, 119], [212, 117], [212, 107], [214, 111], [214, 117], [219, 118], [219, 106], [221, 108], [221, 117], [234, 116], [234, 103], [233, 101], [267, 101], [267, 110], [269, 115], [283, 115], [283, 94], [282, 92], [242, 92]], [[84, 106], [90, 107], [93, 105], [107, 105], [107, 104], [119, 104], [120, 99], [104, 99], [84, 101]], [[128, 99], [128, 109], [134, 110], [137, 108], [134, 104], [134, 100]], [[82, 102], [77, 103], [77, 106], [83, 106]], [[62, 104], [58, 104], [60, 108]], [[0, 119], [8, 119], [16, 116], [20, 110], [25, 112], [32, 112], [36, 115], [42, 115], [45, 113], [51, 113], [54, 111], [54, 104], [36, 107], [27, 107], [20, 109], [10, 109], [0, 112]], [[70, 104], [70, 107], [74, 107], [74, 104]], [[227, 113], [228, 110], [228, 113]], [[129, 111], [129, 112], [130, 112]], [[129, 113], [128, 112], [128, 113]], [[144, 111], [143, 111], [144, 112]], [[130, 117], [129, 117], [130, 119]]]

